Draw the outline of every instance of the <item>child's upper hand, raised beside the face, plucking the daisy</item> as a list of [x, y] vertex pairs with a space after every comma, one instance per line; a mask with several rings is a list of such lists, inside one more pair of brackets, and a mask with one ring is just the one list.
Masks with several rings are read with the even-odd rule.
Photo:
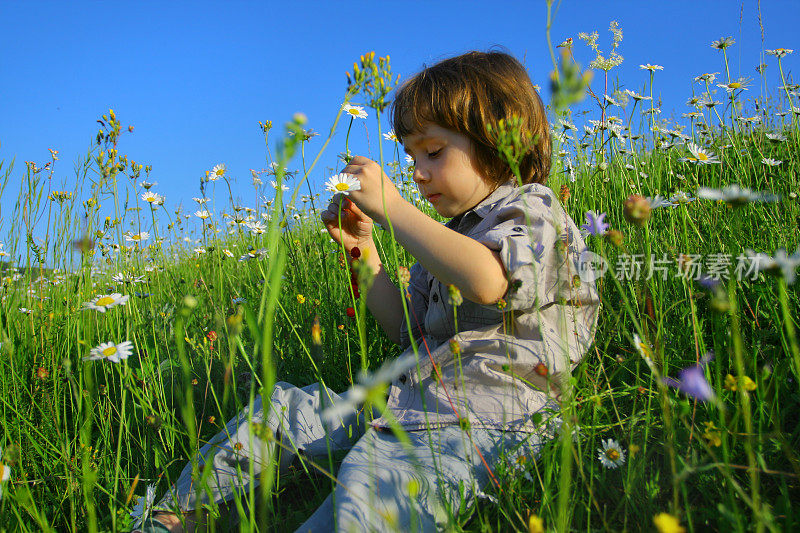
[[397, 206], [398, 202], [404, 201], [392, 180], [383, 172], [378, 163], [359, 155], [353, 157], [350, 164], [342, 169], [342, 172], [352, 174], [361, 182], [361, 190], [350, 192], [350, 199], [358, 204], [358, 207], [367, 216], [385, 226], [384, 197], [387, 211], [391, 207]]

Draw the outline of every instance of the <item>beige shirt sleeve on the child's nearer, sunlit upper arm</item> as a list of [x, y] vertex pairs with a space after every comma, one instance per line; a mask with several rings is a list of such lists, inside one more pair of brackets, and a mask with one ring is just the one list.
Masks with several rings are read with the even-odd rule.
[[509, 282], [506, 308], [525, 310], [555, 301], [559, 287], [552, 286], [552, 278], [565, 262], [557, 244], [567, 237], [566, 213], [555, 196], [544, 186], [526, 185], [488, 216], [493, 218], [490, 229], [479, 242], [500, 254]]

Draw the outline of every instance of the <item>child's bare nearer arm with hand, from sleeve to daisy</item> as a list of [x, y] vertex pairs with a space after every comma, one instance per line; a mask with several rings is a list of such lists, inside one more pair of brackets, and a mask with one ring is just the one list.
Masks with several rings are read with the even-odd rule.
[[464, 298], [480, 304], [495, 303], [505, 295], [508, 280], [497, 252], [419, 211], [374, 161], [356, 156], [342, 172], [361, 182], [361, 190], [350, 193], [353, 202], [384, 227], [388, 215], [397, 241], [441, 283], [455, 285]]

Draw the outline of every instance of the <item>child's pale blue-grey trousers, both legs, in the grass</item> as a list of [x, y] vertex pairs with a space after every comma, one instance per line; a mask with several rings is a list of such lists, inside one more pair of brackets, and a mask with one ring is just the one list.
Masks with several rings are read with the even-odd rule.
[[[328, 389], [322, 397], [323, 406], [317, 384], [301, 389], [278, 383], [266, 420], [258, 398], [252, 420], [243, 410], [201, 449], [200, 471], [211, 461], [206, 481], [193, 482], [188, 464], [156, 508], [188, 511], [211, 501], [229, 502], [237, 494], [244, 497], [271, 457], [285, 472], [297, 455], [327, 465], [329, 450], [349, 450], [336, 490], [297, 531], [436, 531], [459, 509], [469, 509], [490, 482], [481, 455], [494, 468], [501, 455], [534, 459], [541, 447], [538, 434], [466, 432], [457, 426], [408, 432], [409, 446], [390, 432], [364, 433], [363, 413], [355, 410], [335, 424], [323, 424], [321, 408], [342, 399]], [[263, 436], [264, 428], [274, 438], [251, 436]]]

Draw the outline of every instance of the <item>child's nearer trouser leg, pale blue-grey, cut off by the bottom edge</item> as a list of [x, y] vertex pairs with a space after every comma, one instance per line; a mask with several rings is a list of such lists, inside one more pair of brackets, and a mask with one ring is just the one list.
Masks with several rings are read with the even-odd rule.
[[413, 431], [408, 450], [391, 433], [368, 431], [339, 468], [335, 494], [297, 531], [330, 531], [332, 524], [342, 532], [436, 531], [459, 508], [469, 509], [489, 483], [476, 447], [494, 467], [503, 453], [537, 456], [541, 445], [536, 434], [481, 429], [471, 434], [470, 440], [458, 426]]

